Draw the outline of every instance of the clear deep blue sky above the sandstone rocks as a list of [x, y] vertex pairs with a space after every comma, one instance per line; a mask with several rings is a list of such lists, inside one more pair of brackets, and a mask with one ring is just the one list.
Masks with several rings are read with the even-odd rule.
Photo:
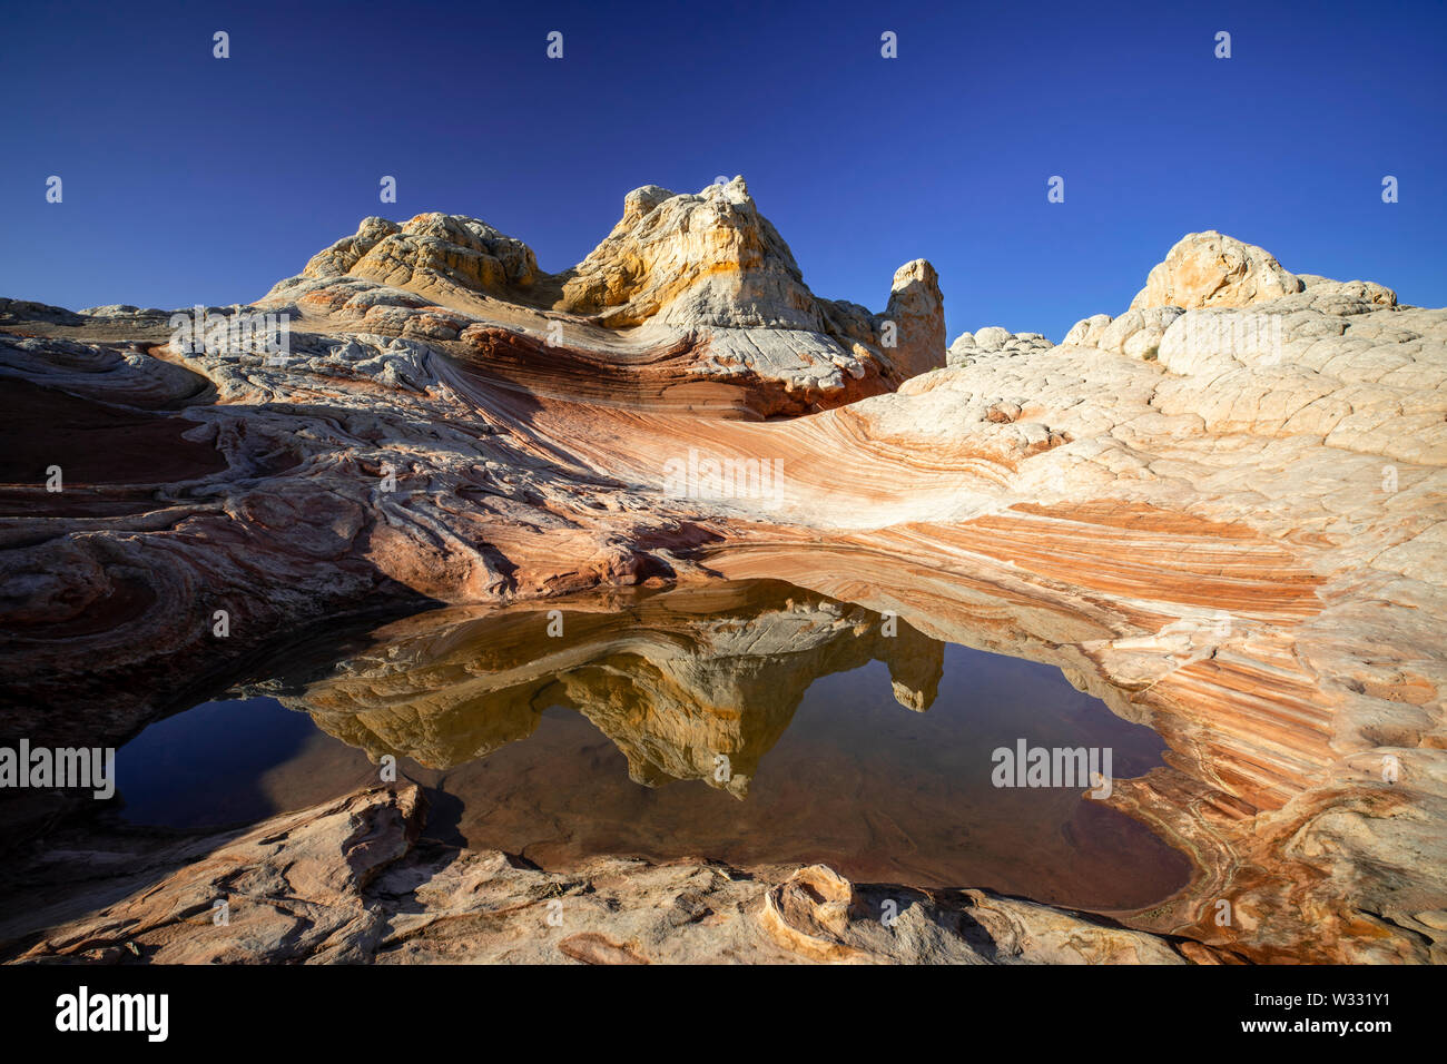
[[951, 337], [1059, 340], [1201, 229], [1443, 305], [1444, 43], [1441, 3], [12, 4], [0, 295], [246, 301], [425, 210], [560, 271], [628, 190], [744, 174], [815, 292], [923, 256]]

